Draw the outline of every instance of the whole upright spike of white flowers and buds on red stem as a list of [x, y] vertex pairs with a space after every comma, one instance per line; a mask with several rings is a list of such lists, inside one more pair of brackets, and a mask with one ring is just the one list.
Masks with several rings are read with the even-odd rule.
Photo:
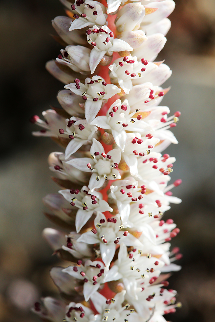
[[56, 17], [53, 27], [65, 49], [46, 67], [66, 84], [57, 95], [63, 109], [31, 122], [42, 127], [34, 135], [65, 148], [49, 156], [61, 190], [44, 204], [67, 234], [43, 234], [71, 265], [50, 271], [67, 302], [47, 297], [34, 311], [53, 322], [163, 322], [181, 306], [164, 280], [180, 269], [172, 262], [182, 255], [169, 243], [179, 229], [162, 219], [170, 203], [181, 202], [170, 192], [181, 180], [168, 185], [175, 158], [161, 154], [177, 143], [169, 129], [180, 112], [168, 116], [160, 106], [171, 71], [155, 59], [175, 3], [61, 2], [68, 17]]

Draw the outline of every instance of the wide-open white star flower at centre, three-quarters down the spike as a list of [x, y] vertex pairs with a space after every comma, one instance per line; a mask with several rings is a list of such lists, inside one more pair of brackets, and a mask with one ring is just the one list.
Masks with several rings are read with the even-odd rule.
[[122, 231], [122, 223], [119, 215], [106, 219], [103, 213], [98, 212], [94, 220], [96, 229], [91, 232], [84, 232], [78, 242], [98, 244], [101, 258], [107, 267], [114, 257], [116, 245], [123, 242], [127, 246], [141, 246], [141, 243], [127, 231]]

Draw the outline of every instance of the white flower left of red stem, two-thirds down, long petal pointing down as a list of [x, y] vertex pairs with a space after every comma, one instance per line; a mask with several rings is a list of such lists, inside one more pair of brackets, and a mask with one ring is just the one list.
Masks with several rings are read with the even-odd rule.
[[60, 190], [59, 193], [62, 194], [72, 206], [79, 208], [75, 217], [77, 232], [80, 232], [83, 225], [87, 223], [94, 212], [113, 211], [108, 203], [102, 199], [102, 194], [96, 191], [94, 194], [90, 194], [89, 188], [86, 186], [83, 186], [81, 191], [78, 191], [77, 189], [65, 189]]

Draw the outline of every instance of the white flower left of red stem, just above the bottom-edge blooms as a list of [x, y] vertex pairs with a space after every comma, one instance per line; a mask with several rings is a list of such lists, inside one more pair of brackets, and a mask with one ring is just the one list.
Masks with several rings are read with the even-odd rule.
[[69, 266], [62, 270], [76, 279], [84, 281], [83, 295], [85, 301], [88, 301], [90, 296], [95, 293], [99, 286], [109, 280], [113, 280], [114, 276], [110, 275], [108, 268], [99, 260], [86, 260], [84, 265], [78, 260], [79, 266]]

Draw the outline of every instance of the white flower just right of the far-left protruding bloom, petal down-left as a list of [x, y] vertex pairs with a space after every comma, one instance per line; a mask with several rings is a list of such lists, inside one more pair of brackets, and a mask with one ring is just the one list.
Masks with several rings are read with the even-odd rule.
[[98, 128], [96, 126], [89, 125], [87, 120], [71, 117], [66, 119], [66, 132], [71, 139], [65, 149], [65, 158], [68, 159], [73, 153], [75, 153], [83, 145], [89, 145], [92, 143], [92, 138], [98, 138]]

